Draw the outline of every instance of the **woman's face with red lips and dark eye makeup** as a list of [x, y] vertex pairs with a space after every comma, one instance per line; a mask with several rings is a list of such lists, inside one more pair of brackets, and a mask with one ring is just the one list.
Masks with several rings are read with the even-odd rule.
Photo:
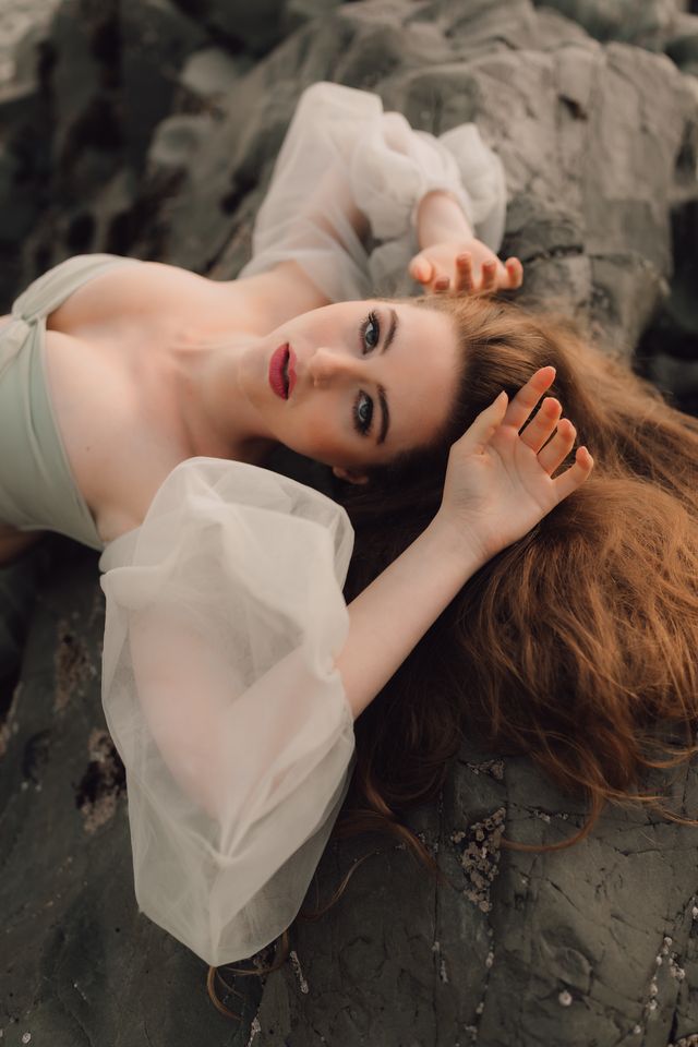
[[382, 301], [303, 313], [251, 356], [243, 388], [270, 438], [350, 479], [429, 443], [459, 371], [447, 315]]

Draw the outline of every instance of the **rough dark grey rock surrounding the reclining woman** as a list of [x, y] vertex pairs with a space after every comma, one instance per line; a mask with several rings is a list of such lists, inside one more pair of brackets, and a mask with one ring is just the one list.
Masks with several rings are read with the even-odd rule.
[[[626, 353], [639, 346], [638, 366], [696, 412], [688, 7], [275, 0], [287, 22], [270, 27], [266, 8], [222, 0], [63, 0], [0, 91], [3, 304], [83, 250], [233, 276], [298, 95], [329, 79], [378, 92], [418, 128], [477, 119], [507, 170], [503, 252], [525, 262], [521, 299], [587, 317]], [[282, 456], [280, 468], [310, 476]], [[583, 811], [527, 760], [469, 747], [440, 803], [409, 819], [453, 886], [389, 841], [332, 843], [322, 900], [377, 853], [334, 908], [299, 923], [289, 964], [264, 985], [234, 979], [243, 995], [226, 999], [244, 1014], [229, 1023], [206, 999], [204, 965], [137, 915], [99, 705], [96, 557], [63, 539], [48, 547], [0, 731], [3, 1044], [31, 1033], [51, 1047], [687, 1047], [698, 1036], [698, 830], [616, 809], [571, 851], [513, 852], [502, 830], [553, 842]], [[696, 814], [695, 766], [672, 796]]]

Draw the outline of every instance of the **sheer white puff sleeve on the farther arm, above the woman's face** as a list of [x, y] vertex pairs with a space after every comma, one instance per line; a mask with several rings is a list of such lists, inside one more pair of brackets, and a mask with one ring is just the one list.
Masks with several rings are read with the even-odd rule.
[[[323, 193], [329, 176], [332, 191]], [[479, 238], [498, 250], [504, 169], [474, 124], [435, 137], [412, 130], [399, 112], [384, 112], [371, 92], [313, 84], [299, 99], [257, 213], [252, 258], [239, 276], [293, 260], [330, 301], [366, 298], [417, 252], [417, 207], [435, 189], [453, 193]], [[348, 202], [378, 241], [371, 252]]]

